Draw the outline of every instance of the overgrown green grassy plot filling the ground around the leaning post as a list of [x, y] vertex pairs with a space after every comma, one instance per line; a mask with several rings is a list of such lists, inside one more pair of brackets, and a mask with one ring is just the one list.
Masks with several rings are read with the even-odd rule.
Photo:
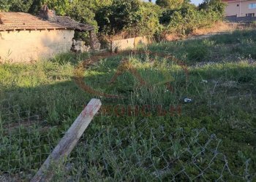
[[[67, 159], [71, 170], [56, 167], [59, 181], [256, 180], [256, 31], [152, 44], [83, 70], [91, 88], [122, 98], [75, 83], [89, 57], [0, 65], [0, 175], [31, 178], [86, 103], [100, 98], [102, 111]], [[129, 71], [110, 84], [124, 57], [147, 84]], [[28, 124], [28, 114], [39, 117]]]

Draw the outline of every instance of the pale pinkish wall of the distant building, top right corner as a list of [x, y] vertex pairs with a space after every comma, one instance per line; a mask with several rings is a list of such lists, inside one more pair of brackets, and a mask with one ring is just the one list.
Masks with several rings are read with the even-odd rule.
[[248, 13], [255, 13], [256, 16], [256, 9], [249, 9], [249, 4], [256, 4], [256, 0], [227, 3], [226, 16], [237, 15], [238, 17], [245, 17]]

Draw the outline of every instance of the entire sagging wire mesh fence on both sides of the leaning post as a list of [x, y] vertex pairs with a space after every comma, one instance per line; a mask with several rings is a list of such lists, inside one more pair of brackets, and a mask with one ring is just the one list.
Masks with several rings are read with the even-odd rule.
[[[1, 102], [0, 134], [0, 181], [29, 181], [61, 137], [8, 102]], [[220, 145], [205, 128], [173, 129], [148, 119], [105, 126], [85, 133], [64, 166], [52, 168], [53, 181], [249, 181], [249, 160], [235, 170]]]

